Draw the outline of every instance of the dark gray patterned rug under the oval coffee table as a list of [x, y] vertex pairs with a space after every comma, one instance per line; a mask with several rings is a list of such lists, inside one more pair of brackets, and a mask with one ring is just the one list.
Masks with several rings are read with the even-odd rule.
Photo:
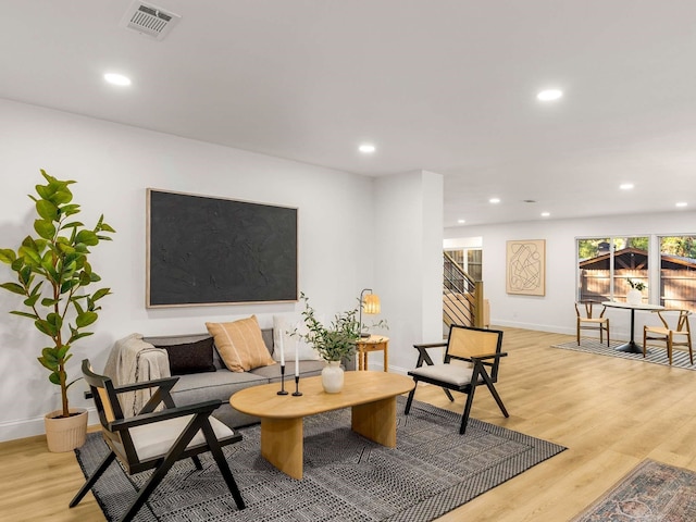
[[[350, 410], [304, 419], [304, 478], [277, 471], [259, 453], [260, 426], [240, 430], [244, 440], [225, 455], [247, 505], [237, 511], [210, 453], [203, 471], [179, 461], [140, 509], [139, 521], [419, 521], [442, 517], [566, 448], [521, 433], [469, 421], [414, 401], [403, 415], [398, 397], [396, 449], [350, 430]], [[83, 472], [107, 455], [99, 433], [75, 450]], [[92, 493], [107, 520], [117, 520], [147, 473], [128, 477], [113, 463]]]

